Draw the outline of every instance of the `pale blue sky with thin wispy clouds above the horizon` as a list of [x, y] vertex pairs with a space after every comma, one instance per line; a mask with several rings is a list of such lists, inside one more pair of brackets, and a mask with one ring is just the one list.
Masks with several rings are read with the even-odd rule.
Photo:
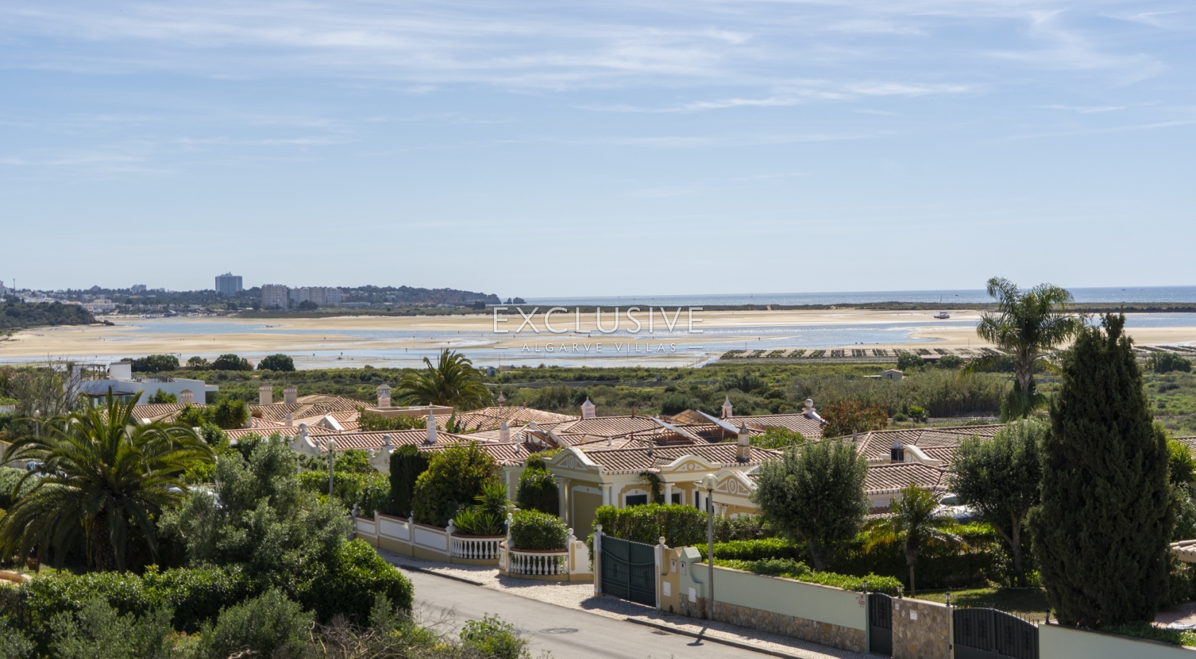
[[1191, 285], [1182, 1], [0, 5], [0, 279]]

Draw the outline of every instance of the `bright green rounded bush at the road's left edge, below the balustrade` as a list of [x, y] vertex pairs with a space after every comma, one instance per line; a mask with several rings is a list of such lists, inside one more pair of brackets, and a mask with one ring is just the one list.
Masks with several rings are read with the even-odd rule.
[[415, 587], [364, 539], [344, 543], [330, 565], [310, 566], [297, 599], [327, 621], [336, 614], [364, 624], [378, 594], [410, 612]]

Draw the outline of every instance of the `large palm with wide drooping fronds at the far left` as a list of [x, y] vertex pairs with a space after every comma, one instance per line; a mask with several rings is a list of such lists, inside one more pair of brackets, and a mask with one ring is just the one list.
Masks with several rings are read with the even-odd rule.
[[[106, 405], [38, 421], [41, 432], [12, 443], [0, 464], [39, 464], [22, 478], [36, 482], [0, 520], [0, 556], [55, 549], [62, 565], [79, 541], [99, 569], [124, 569], [133, 527], [157, 556], [154, 517], [187, 490], [183, 472], [210, 464], [212, 450], [194, 429], [138, 426], [133, 405], [108, 393]], [[20, 487], [20, 484], [18, 484]]]

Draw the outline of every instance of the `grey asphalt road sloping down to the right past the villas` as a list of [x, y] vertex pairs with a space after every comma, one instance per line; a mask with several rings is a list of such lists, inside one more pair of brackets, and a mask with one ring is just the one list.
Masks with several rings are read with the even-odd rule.
[[[698, 641], [691, 636], [654, 630], [631, 622], [547, 604], [526, 597], [474, 586], [422, 572], [403, 570], [415, 584], [416, 608], [425, 620], [452, 611], [452, 633], [468, 620], [498, 614], [529, 636], [533, 658], [543, 651], [554, 659], [609, 657], [611, 659], [736, 658], [762, 659], [748, 649]], [[443, 629], [444, 630], [444, 629]]]

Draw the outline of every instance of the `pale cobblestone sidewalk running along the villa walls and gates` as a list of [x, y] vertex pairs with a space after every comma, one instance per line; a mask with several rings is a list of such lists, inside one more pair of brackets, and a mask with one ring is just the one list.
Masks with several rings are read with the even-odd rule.
[[599, 616], [611, 618], [637, 618], [654, 622], [677, 630], [703, 634], [706, 637], [718, 637], [727, 641], [758, 647], [771, 652], [782, 652], [801, 659], [865, 659], [871, 654], [861, 654], [847, 649], [828, 647], [800, 639], [744, 629], [722, 622], [697, 621], [685, 616], [661, 614], [651, 606], [643, 606], [614, 597], [596, 597], [593, 584], [551, 584], [533, 581], [530, 579], [513, 579], [500, 576], [495, 567], [489, 566], [463, 566], [457, 563], [441, 563], [437, 561], [423, 561], [410, 556], [402, 556], [379, 549], [386, 561], [396, 566], [411, 566], [446, 576], [456, 576], [477, 581], [486, 588], [505, 591], [559, 606], [580, 609]]

